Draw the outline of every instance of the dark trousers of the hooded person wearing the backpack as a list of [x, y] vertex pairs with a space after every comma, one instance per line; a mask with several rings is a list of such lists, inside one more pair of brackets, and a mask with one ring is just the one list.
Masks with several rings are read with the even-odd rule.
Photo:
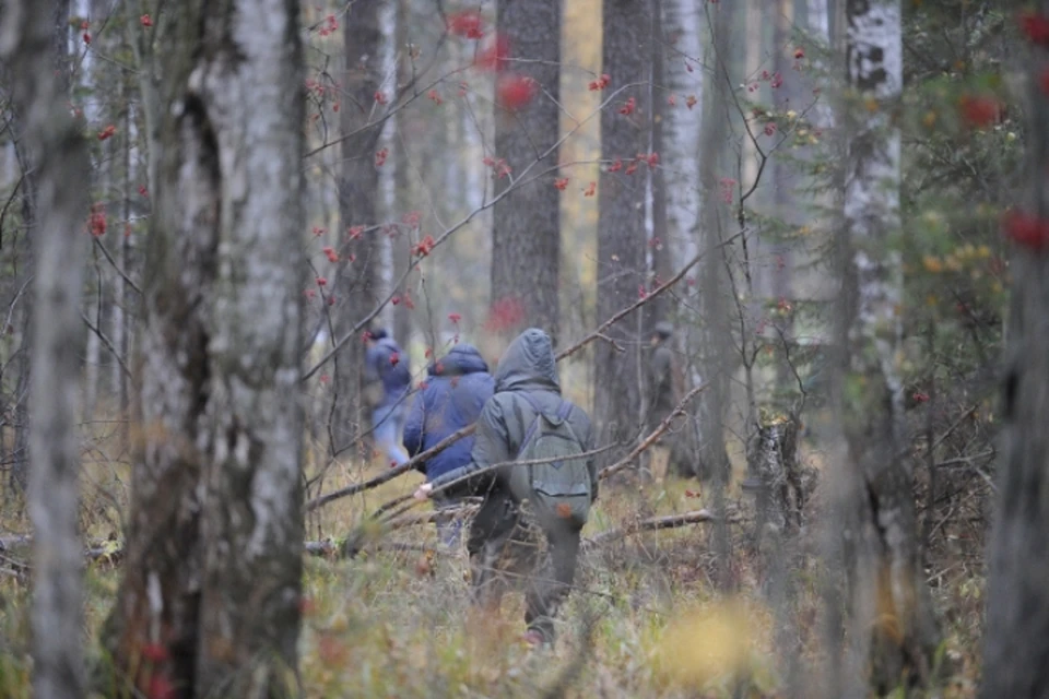
[[485, 500], [467, 544], [474, 604], [498, 609], [506, 592], [523, 589], [524, 623], [552, 643], [554, 618], [576, 576], [579, 537], [577, 526], [544, 530], [508, 499]]

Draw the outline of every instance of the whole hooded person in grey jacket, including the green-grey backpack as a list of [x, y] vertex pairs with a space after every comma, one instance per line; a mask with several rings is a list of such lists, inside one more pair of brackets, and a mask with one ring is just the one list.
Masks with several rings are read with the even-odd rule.
[[426, 499], [467, 477], [484, 496], [467, 544], [474, 602], [497, 611], [523, 577], [524, 638], [533, 645], [554, 642], [554, 617], [576, 574], [580, 531], [598, 495], [593, 457], [586, 455], [592, 439], [587, 413], [561, 395], [550, 336], [531, 328], [496, 367], [470, 463], [415, 491]]

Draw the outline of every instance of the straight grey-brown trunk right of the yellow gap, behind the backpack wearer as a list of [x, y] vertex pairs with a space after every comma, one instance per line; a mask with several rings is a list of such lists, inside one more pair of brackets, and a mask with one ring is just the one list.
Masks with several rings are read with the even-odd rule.
[[[634, 157], [648, 145], [649, 103], [646, 3], [608, 0], [602, 17], [602, 64], [610, 88], [625, 87], [601, 112], [601, 157], [622, 162], [618, 171], [601, 170], [598, 192], [598, 317], [615, 315], [637, 300], [646, 283], [645, 173], [626, 171], [638, 165]], [[627, 87], [627, 85], [630, 85]], [[594, 351], [594, 414], [601, 443], [626, 442], [637, 437], [641, 424], [640, 313], [630, 313], [609, 328], [608, 341]], [[609, 381], [608, 377], [616, 377]], [[608, 463], [626, 449], [605, 452]]]

